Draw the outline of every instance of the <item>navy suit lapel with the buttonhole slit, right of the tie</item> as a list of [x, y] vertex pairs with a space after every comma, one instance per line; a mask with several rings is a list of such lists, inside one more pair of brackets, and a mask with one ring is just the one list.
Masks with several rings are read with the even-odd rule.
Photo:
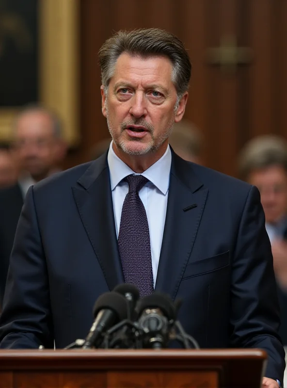
[[156, 290], [176, 296], [190, 258], [208, 190], [192, 164], [173, 152], [166, 220], [159, 258]]

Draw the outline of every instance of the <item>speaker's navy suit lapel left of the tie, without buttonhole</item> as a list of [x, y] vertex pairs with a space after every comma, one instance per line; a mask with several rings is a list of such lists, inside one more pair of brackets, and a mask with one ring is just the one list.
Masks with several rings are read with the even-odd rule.
[[124, 282], [120, 265], [107, 154], [93, 162], [73, 187], [74, 198], [108, 287]]

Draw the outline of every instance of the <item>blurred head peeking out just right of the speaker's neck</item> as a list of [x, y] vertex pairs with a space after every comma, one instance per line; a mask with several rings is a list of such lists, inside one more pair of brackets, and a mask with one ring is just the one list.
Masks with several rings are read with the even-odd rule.
[[203, 136], [191, 121], [175, 123], [169, 143], [182, 159], [201, 164]]

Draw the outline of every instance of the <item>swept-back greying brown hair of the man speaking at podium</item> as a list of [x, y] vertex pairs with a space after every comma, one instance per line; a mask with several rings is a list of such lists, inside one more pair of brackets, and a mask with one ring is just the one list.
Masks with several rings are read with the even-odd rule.
[[105, 94], [114, 73], [116, 61], [123, 52], [146, 58], [154, 55], [169, 58], [173, 65], [172, 81], [179, 100], [188, 90], [191, 62], [183, 43], [169, 32], [150, 28], [116, 32], [102, 45], [98, 57]]

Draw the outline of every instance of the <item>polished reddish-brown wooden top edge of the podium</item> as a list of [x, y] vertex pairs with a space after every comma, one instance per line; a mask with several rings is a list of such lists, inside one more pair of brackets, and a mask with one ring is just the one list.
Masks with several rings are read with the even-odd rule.
[[174, 371], [221, 369], [223, 366], [230, 370], [251, 368], [253, 371], [261, 371], [266, 362], [267, 353], [260, 349], [0, 350], [0, 372], [107, 372], [131, 369]]

